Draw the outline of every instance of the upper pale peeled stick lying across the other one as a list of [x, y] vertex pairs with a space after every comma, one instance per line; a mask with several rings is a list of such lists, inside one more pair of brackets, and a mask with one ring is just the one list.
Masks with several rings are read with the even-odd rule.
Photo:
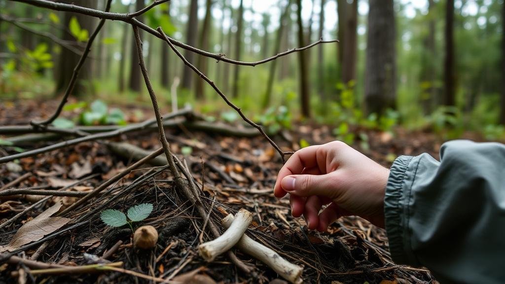
[[198, 246], [198, 253], [207, 261], [213, 261], [218, 255], [227, 252], [240, 240], [252, 221], [252, 213], [240, 209], [235, 220], [230, 222], [228, 229], [219, 238]]

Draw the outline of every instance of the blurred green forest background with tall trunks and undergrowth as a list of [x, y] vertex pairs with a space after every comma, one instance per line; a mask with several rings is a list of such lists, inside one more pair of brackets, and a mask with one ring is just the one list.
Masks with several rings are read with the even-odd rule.
[[[61, 2], [104, 10], [106, 1]], [[114, 0], [111, 12], [150, 3]], [[6, 0], [0, 11], [0, 102], [59, 100], [98, 21]], [[313, 119], [334, 125], [337, 138], [349, 142], [352, 129], [389, 131], [397, 125], [444, 138], [465, 131], [503, 138], [504, 16], [503, 1], [492, 0], [172, 0], [138, 18], [198, 49], [240, 61], [339, 39], [256, 67], [184, 55], [271, 132], [290, 128], [292, 120]], [[166, 42], [141, 33], [163, 108], [177, 97], [179, 106], [239, 119]], [[132, 35], [124, 22], [105, 23], [71, 94], [77, 100], [65, 110], [85, 109], [97, 99], [95, 109], [106, 103], [150, 105]], [[88, 112], [70, 123], [104, 122], [99, 118]], [[107, 123], [124, 123], [121, 111]]]

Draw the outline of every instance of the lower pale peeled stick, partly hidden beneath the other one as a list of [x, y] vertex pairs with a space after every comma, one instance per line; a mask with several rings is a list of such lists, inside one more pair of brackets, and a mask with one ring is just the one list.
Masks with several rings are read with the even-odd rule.
[[[233, 219], [233, 215], [229, 214], [223, 220], [221, 220], [221, 223], [223, 226], [228, 228], [232, 222], [235, 223]], [[265, 263], [289, 282], [295, 284], [303, 282], [301, 279], [301, 272], [304, 270], [303, 267], [285, 260], [278, 253], [256, 242], [255, 240], [252, 240], [246, 234], [242, 236], [235, 247], [237, 247], [240, 251]]]

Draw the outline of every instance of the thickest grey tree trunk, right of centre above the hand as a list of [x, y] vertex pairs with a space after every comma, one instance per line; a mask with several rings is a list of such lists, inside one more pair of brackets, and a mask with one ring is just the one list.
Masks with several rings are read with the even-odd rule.
[[381, 115], [396, 100], [393, 0], [370, 0], [369, 5], [365, 105], [368, 113]]

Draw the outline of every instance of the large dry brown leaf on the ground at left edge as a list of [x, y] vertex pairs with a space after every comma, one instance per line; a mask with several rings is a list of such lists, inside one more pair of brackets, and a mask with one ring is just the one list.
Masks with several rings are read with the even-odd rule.
[[57, 203], [40, 213], [37, 217], [26, 222], [19, 228], [9, 244], [0, 247], [0, 252], [13, 251], [23, 245], [36, 242], [70, 222], [69, 218], [51, 217], [61, 207], [62, 204]]

